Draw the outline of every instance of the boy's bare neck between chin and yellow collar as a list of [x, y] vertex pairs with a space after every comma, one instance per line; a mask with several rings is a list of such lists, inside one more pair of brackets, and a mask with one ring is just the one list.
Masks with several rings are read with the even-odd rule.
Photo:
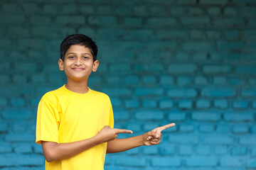
[[65, 85], [65, 88], [78, 94], [86, 94], [89, 91], [87, 81], [78, 82], [68, 80], [67, 84]]

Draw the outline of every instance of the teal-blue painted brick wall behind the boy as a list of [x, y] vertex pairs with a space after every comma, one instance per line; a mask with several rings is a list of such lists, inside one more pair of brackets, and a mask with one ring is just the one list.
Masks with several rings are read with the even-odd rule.
[[59, 45], [73, 33], [99, 46], [89, 84], [116, 128], [176, 123], [105, 169], [256, 169], [255, 0], [1, 0], [0, 26], [0, 169], [43, 169], [36, 109], [65, 84]]

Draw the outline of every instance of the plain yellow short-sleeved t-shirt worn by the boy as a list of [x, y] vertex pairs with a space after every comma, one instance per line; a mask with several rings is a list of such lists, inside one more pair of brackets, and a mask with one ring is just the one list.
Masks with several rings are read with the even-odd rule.
[[[89, 89], [86, 94], [69, 91], [65, 85], [46, 93], [38, 105], [36, 143], [75, 142], [97, 135], [105, 126], [114, 126], [110, 98]], [[104, 169], [107, 142], [55, 162], [46, 162], [46, 170]]]

